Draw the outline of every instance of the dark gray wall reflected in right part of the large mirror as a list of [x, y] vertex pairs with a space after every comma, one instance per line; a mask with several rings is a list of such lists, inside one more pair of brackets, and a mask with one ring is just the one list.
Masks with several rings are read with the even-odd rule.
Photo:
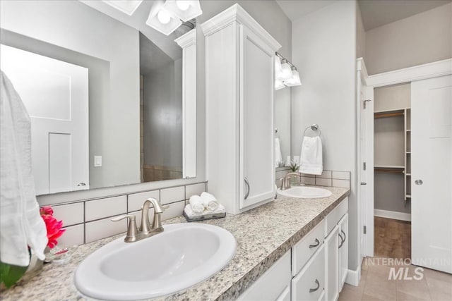
[[145, 74], [143, 88], [144, 164], [182, 170], [182, 59]]

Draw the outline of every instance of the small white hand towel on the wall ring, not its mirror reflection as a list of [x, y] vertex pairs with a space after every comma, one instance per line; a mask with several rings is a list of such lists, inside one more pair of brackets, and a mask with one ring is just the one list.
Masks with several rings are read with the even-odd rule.
[[322, 140], [317, 137], [304, 137], [300, 155], [300, 173], [321, 175], [323, 171]]

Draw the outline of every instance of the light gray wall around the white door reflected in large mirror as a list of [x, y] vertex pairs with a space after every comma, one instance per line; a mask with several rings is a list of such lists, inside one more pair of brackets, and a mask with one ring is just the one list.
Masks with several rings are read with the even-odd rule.
[[0, 20], [11, 32], [109, 62], [109, 91], [98, 92], [94, 106], [90, 99], [90, 147], [102, 155], [90, 183], [138, 183], [138, 31], [79, 1], [1, 1]]

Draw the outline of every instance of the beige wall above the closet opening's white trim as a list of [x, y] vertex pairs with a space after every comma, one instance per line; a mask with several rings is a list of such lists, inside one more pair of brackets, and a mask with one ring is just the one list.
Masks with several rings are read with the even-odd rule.
[[452, 57], [452, 4], [366, 32], [369, 75]]

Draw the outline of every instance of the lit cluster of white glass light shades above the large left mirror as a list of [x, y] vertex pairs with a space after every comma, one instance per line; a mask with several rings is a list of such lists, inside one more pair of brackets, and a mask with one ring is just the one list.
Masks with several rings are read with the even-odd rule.
[[164, 35], [170, 35], [182, 25], [182, 21], [186, 22], [196, 18], [201, 13], [203, 11], [201, 11], [199, 0], [167, 0], [165, 4], [162, 1], [155, 1], [153, 8], [150, 9], [146, 25]]

